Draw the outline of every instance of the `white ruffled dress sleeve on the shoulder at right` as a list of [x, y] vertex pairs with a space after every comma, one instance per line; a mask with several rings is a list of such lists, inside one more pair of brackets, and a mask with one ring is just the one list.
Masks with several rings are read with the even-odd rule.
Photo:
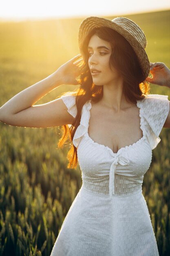
[[169, 113], [168, 96], [150, 94], [141, 101], [137, 101], [140, 108], [141, 123], [150, 143], [151, 149], [160, 142], [159, 134]]

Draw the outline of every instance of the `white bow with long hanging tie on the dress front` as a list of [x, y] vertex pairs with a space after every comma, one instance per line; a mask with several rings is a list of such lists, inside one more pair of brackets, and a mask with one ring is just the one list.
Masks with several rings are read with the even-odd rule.
[[125, 157], [117, 156], [115, 157], [113, 163], [110, 166], [110, 172], [109, 172], [109, 195], [110, 199], [115, 195], [115, 170], [116, 166], [118, 164], [129, 165], [129, 160]]

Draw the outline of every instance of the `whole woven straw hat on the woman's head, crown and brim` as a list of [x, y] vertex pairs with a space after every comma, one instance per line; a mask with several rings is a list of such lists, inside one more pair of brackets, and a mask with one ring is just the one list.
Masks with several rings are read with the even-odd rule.
[[113, 20], [99, 17], [88, 17], [83, 20], [79, 26], [78, 40], [81, 53], [83, 52], [82, 46], [84, 39], [92, 29], [98, 27], [109, 27], [126, 38], [137, 54], [139, 64], [141, 65], [146, 79], [150, 72], [150, 63], [145, 52], [147, 45], [146, 37], [141, 28], [134, 21], [124, 17], [117, 17]]

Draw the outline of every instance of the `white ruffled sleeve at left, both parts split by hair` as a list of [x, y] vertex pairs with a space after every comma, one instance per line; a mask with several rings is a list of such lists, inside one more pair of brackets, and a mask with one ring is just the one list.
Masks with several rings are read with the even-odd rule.
[[[77, 106], [75, 103], [76, 96], [73, 95], [64, 95], [61, 97], [64, 104], [67, 107], [67, 111], [73, 117], [77, 115]], [[73, 137], [73, 145], [77, 148], [82, 137], [86, 132], [88, 132], [88, 124], [90, 119], [90, 109], [91, 109], [91, 101], [87, 101], [82, 107], [80, 124], [75, 131], [75, 135]]]

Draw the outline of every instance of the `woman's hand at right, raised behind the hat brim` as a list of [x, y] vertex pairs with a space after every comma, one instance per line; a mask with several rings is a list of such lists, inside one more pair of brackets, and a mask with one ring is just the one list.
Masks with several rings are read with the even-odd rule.
[[152, 74], [152, 78], [148, 76], [146, 81], [170, 88], [170, 70], [164, 63], [150, 62], [150, 74]]

